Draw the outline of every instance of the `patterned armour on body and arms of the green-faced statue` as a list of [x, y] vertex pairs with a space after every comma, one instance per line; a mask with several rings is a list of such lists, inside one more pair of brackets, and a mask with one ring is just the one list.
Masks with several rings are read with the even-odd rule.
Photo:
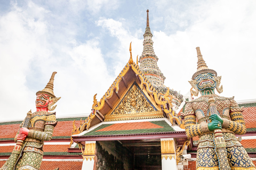
[[[185, 112], [185, 128], [188, 137], [199, 135], [197, 148], [197, 169], [219, 169], [218, 158], [214, 151], [213, 131], [208, 129], [210, 123], [209, 97], [215, 99], [217, 111], [223, 119], [222, 133], [227, 146], [227, 156], [231, 169], [252, 168], [250, 157], [244, 147], [235, 137], [235, 134], [246, 132], [243, 109], [240, 108], [233, 98], [220, 97], [218, 95], [205, 95], [193, 101], [188, 101]], [[196, 124], [197, 120], [197, 124]]]

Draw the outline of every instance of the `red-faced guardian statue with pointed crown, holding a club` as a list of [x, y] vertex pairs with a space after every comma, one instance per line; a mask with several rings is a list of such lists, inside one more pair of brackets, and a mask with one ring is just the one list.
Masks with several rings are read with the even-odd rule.
[[49, 83], [43, 90], [36, 92], [36, 112], [29, 111], [20, 124], [14, 138], [16, 146], [1, 170], [39, 170], [44, 154], [44, 141], [51, 140], [54, 126], [57, 124], [55, 112], [49, 112], [56, 108], [57, 105], [54, 104], [60, 99], [53, 93], [56, 73], [52, 73]]

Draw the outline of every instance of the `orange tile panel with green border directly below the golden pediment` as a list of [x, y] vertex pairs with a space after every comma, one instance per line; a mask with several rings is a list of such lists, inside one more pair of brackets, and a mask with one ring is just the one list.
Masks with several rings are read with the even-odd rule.
[[156, 129], [164, 128], [151, 122], [132, 122], [132, 123], [116, 123], [106, 128], [100, 129], [100, 131], [123, 131], [123, 130], [136, 130], [136, 129]]

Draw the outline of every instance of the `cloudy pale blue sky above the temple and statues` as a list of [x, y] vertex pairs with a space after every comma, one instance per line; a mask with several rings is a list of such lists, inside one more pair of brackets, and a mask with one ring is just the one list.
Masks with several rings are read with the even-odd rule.
[[[147, 9], [165, 85], [186, 95], [196, 47], [222, 76], [220, 96], [256, 97], [256, 1], [5, 1], [0, 3], [0, 121], [35, 112], [52, 72], [57, 117], [86, 116], [141, 55]], [[217, 93], [218, 94], [218, 93]]]

